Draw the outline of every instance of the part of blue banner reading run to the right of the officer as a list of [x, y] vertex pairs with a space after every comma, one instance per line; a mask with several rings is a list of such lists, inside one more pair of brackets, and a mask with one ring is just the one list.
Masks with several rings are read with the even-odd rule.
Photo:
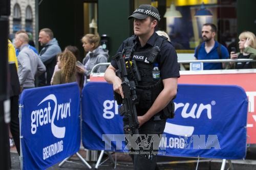
[[165, 125], [171, 156], [242, 159], [246, 156], [248, 100], [239, 86], [179, 85], [175, 118]]

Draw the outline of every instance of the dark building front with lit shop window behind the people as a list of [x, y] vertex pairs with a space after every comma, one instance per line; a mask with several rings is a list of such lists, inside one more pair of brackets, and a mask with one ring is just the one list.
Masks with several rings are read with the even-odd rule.
[[[12, 11], [15, 4], [13, 2], [17, 1], [25, 0], [12, 0]], [[203, 23], [215, 23], [218, 29], [217, 40], [227, 47], [238, 47], [238, 35], [241, 32], [247, 30], [255, 33], [256, 30], [256, 19], [252, 15], [256, 1], [251, 0], [62, 0], [61, 3], [50, 0], [27, 1], [37, 4], [36, 36], [38, 30], [50, 28], [61, 48], [72, 44], [83, 52], [80, 41], [82, 36], [98, 32], [99, 35], [106, 35], [110, 56], [115, 55], [123, 39], [133, 35], [133, 20], [128, 20], [127, 16], [141, 4], [157, 7], [161, 16], [158, 29], [167, 32], [176, 45], [178, 56], [181, 57], [183, 54], [193, 57], [195, 48], [202, 41]], [[208, 16], [196, 15], [203, 3], [204, 8], [210, 12]], [[25, 4], [24, 9], [28, 3]], [[165, 15], [172, 4], [176, 6], [176, 12], [180, 16]], [[34, 8], [31, 7], [34, 26]], [[97, 22], [94, 30], [90, 28], [92, 19]], [[23, 23], [21, 27], [25, 28]]]

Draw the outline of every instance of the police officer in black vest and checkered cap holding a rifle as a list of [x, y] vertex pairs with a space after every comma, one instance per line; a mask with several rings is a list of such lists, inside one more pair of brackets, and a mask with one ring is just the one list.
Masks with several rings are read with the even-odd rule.
[[[164, 116], [166, 115], [164, 113], [166, 110], [167, 112], [172, 110], [172, 108], [168, 108], [177, 93], [177, 82], [180, 77], [177, 54], [169, 41], [155, 33], [160, 20], [159, 12], [155, 7], [140, 5], [129, 16], [129, 19], [132, 18], [134, 19], [135, 35], [124, 40], [118, 52], [127, 55], [134, 51], [131, 57], [136, 60], [140, 72], [141, 81], [138, 82], [136, 90], [140, 96], [139, 104], [136, 106], [139, 134], [160, 135], [163, 133], [168, 117]], [[148, 59], [156, 46], [160, 48], [160, 51], [156, 59], [150, 62]], [[152, 75], [155, 66], [160, 70], [159, 79], [153, 78]], [[117, 63], [112, 60], [111, 65], [105, 71], [104, 78], [113, 84], [114, 91], [123, 98], [121, 80], [115, 74], [116, 69], [118, 69]], [[143, 148], [140, 150], [143, 151]], [[157, 169], [156, 155], [152, 154], [152, 147], [145, 151], [147, 152], [139, 152], [140, 154], [134, 155], [134, 169]]]

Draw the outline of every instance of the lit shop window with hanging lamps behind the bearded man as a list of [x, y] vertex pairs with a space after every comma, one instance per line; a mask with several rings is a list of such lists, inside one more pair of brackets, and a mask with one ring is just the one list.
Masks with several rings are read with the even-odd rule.
[[[195, 17], [200, 8], [210, 11], [211, 16]], [[176, 50], [195, 50], [202, 42], [201, 29], [204, 23], [214, 23], [217, 26], [217, 36], [220, 43], [228, 47], [237, 37], [236, 1], [205, 0], [205, 1], [179, 1], [167, 0], [166, 10], [170, 4], [176, 5], [182, 17], [166, 18], [166, 32], [174, 43]], [[194, 53], [194, 51], [193, 51]]]

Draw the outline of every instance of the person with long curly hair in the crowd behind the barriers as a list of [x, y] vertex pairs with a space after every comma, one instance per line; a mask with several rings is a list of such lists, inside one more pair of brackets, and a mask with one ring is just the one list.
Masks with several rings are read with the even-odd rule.
[[76, 57], [72, 52], [61, 53], [57, 65], [60, 70], [55, 72], [52, 85], [76, 82]]

